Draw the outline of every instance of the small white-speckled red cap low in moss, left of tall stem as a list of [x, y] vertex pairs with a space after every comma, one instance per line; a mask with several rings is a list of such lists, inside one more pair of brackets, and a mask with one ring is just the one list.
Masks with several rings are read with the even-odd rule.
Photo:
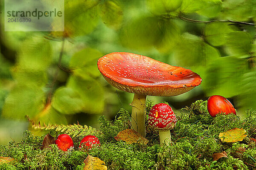
[[99, 139], [96, 136], [87, 135], [81, 140], [79, 148], [84, 147], [86, 150], [91, 150], [95, 146], [100, 146]]

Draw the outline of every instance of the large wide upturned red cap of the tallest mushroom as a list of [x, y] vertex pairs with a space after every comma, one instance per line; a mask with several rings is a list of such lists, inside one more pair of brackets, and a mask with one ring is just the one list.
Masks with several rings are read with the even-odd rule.
[[127, 52], [113, 52], [101, 57], [98, 68], [114, 87], [140, 95], [177, 96], [202, 81], [189, 69]]

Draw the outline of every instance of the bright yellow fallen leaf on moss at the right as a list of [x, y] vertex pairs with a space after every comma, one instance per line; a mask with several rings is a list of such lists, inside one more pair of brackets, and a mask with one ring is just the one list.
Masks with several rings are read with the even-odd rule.
[[238, 142], [242, 141], [247, 136], [245, 133], [246, 130], [243, 128], [233, 128], [226, 132], [220, 133], [219, 138], [222, 142]]

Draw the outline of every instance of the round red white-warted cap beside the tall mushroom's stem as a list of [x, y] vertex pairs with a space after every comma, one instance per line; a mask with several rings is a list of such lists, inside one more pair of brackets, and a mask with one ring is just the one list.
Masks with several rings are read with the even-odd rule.
[[148, 125], [152, 129], [170, 130], [176, 125], [177, 119], [171, 106], [165, 103], [154, 105], [148, 114]]

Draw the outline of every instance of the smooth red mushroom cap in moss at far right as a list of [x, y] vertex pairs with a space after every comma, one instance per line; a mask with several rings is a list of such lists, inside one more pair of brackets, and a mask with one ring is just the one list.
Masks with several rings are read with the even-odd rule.
[[236, 109], [230, 103], [230, 101], [228, 101], [228, 99], [226, 99], [225, 97], [219, 95], [213, 95], [209, 97], [207, 101], [207, 109], [212, 117], [216, 117], [218, 113], [233, 113], [236, 115]]

